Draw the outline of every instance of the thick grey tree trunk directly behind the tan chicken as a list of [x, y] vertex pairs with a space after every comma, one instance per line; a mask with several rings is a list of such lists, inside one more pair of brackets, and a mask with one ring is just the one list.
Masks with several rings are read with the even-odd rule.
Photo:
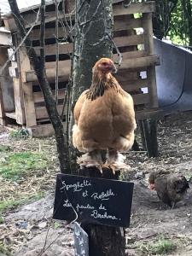
[[[76, 0], [76, 35], [73, 55], [73, 90], [70, 129], [74, 124], [73, 108], [80, 94], [90, 88], [92, 67], [102, 57], [112, 55], [112, 0]], [[108, 37], [109, 35], [109, 37]], [[71, 166], [77, 170], [77, 150], [70, 136]]]

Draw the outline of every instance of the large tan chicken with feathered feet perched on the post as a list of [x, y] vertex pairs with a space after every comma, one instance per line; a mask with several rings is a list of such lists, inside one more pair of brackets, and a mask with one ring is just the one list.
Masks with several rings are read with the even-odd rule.
[[85, 153], [78, 159], [80, 166], [96, 166], [100, 171], [102, 166], [113, 171], [128, 167], [119, 152], [131, 149], [137, 125], [132, 97], [113, 77], [115, 72], [111, 59], [97, 61], [90, 89], [76, 102], [73, 145]]

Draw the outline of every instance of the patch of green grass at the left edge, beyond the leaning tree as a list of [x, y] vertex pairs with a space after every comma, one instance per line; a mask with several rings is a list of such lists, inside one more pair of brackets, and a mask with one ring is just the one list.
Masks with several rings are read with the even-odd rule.
[[45, 169], [48, 159], [44, 154], [32, 152], [20, 152], [9, 154], [0, 162], [0, 175], [5, 179], [18, 180], [25, 177], [30, 171]]

